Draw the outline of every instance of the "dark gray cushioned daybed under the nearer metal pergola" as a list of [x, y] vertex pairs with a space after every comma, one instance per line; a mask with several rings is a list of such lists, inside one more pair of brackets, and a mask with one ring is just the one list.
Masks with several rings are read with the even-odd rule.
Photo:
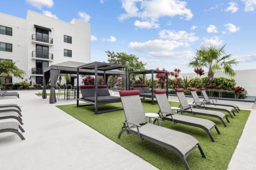
[[78, 98], [78, 100], [90, 103], [87, 105], [95, 105], [95, 113], [96, 114], [122, 109], [122, 108], [115, 108], [115, 109], [98, 111], [99, 104], [121, 102], [121, 99], [119, 96], [111, 96], [110, 95], [107, 85], [98, 85], [98, 90], [97, 90], [96, 96], [95, 96], [95, 86], [94, 85], [80, 85], [79, 89], [81, 91], [82, 97]]

